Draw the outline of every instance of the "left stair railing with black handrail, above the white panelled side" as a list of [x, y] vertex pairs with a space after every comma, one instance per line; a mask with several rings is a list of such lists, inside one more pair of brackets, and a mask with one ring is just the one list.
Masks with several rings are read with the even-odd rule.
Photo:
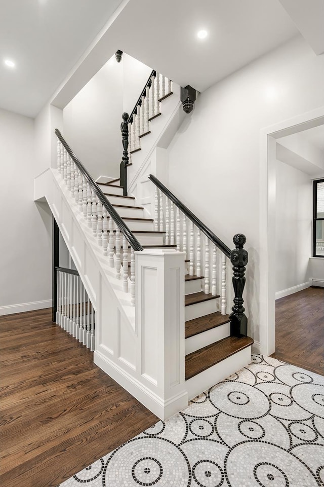
[[[108, 255], [109, 266], [116, 269], [117, 278], [121, 278], [120, 250], [123, 249], [123, 290], [128, 292], [130, 287], [131, 303], [134, 305], [134, 251], [143, 250], [143, 247], [66, 143], [61, 132], [56, 129], [55, 133], [58, 138], [57, 169], [67, 189], [71, 192], [75, 203], [78, 204], [80, 211], [83, 211], [88, 227], [92, 228], [93, 235], [97, 238], [99, 246], [103, 247], [103, 254]], [[129, 246], [131, 250], [130, 286], [128, 276]]]

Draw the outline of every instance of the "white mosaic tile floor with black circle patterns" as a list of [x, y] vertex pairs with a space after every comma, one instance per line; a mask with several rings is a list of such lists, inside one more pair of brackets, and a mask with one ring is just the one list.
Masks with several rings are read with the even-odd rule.
[[60, 487], [324, 486], [324, 377], [260, 355]]

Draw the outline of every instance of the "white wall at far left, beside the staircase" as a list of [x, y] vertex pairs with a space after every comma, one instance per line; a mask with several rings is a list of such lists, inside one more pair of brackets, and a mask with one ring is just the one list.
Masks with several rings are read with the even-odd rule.
[[0, 314], [51, 306], [52, 216], [33, 202], [34, 159], [33, 120], [0, 109]]

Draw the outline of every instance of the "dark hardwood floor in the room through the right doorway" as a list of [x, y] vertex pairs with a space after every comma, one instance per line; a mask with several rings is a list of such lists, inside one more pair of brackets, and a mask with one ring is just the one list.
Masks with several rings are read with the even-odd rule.
[[309, 287], [275, 304], [271, 356], [324, 375], [324, 288]]

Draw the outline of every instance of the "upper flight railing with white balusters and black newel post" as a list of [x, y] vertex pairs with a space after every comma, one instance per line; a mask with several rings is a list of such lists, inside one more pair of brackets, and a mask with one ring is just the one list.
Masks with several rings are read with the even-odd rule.
[[129, 116], [124, 113], [120, 130], [123, 141], [123, 158], [120, 163], [120, 186], [127, 196], [127, 167], [132, 164], [132, 154], [141, 150], [141, 139], [150, 133], [149, 123], [161, 115], [160, 102], [172, 95], [172, 81], [154, 69]]

